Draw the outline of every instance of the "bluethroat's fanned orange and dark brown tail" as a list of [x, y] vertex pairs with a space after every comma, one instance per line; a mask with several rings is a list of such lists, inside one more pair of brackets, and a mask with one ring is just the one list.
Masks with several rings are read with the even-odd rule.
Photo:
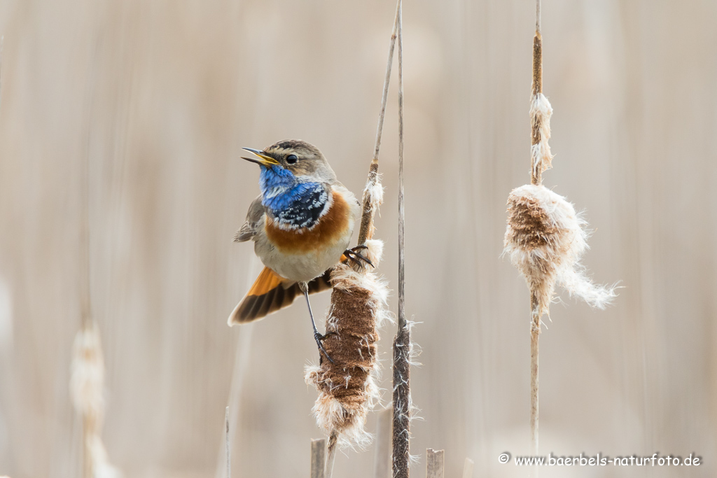
[[[310, 281], [308, 283], [309, 294], [331, 289], [331, 283], [328, 282], [330, 275], [331, 269]], [[265, 267], [242, 302], [234, 307], [227, 323], [234, 325], [259, 320], [277, 310], [288, 307], [294, 302], [297, 295], [302, 295], [298, 282], [285, 279], [272, 269]]]

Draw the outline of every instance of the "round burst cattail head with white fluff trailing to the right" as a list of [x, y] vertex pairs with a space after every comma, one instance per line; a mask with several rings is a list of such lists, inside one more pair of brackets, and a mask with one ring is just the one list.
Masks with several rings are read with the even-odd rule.
[[614, 286], [593, 284], [580, 264], [588, 248], [586, 226], [572, 204], [545, 186], [526, 184], [508, 196], [503, 254], [536, 295], [538, 315], [549, 312], [556, 283], [592, 307], [602, 309], [615, 297]]

